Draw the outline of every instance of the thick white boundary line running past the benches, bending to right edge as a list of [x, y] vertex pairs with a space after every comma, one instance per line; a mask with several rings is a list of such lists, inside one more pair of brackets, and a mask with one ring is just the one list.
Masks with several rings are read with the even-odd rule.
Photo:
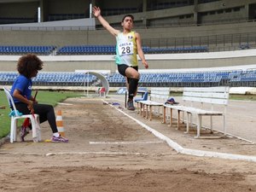
[[[105, 101], [102, 100], [102, 102], [105, 102]], [[176, 150], [177, 153], [190, 154], [190, 155], [200, 156], [200, 157], [217, 157], [217, 158], [226, 159], [226, 160], [247, 160], [247, 161], [256, 162], [256, 156], [241, 155], [241, 154], [227, 154], [227, 153], [220, 153], [220, 152], [214, 152], [214, 151], [204, 151], [204, 150], [198, 150], [198, 149], [183, 148], [178, 143], [173, 142], [171, 138], [166, 137], [165, 135], [163, 135], [159, 131], [154, 130], [150, 126], [143, 124], [143, 122], [131, 117], [131, 115], [125, 113], [119, 108], [115, 108], [115, 109], [118, 110], [120, 113], [125, 114], [125, 116], [129, 117], [130, 119], [133, 119], [135, 122], [137, 122], [138, 125], [143, 126], [143, 128], [153, 133], [154, 136], [159, 137], [161, 140], [165, 141], [171, 148]]]

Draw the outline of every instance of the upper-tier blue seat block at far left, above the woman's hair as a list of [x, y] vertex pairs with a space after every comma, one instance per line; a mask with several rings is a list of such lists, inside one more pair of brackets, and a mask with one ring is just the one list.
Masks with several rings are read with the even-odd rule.
[[0, 46], [1, 55], [23, 55], [34, 53], [37, 55], [52, 54], [55, 46]]

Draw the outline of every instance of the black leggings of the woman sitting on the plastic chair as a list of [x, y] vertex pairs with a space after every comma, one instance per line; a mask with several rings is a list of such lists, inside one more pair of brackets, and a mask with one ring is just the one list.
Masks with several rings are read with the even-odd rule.
[[[15, 103], [15, 107], [23, 114], [30, 114], [30, 111], [28, 110], [26, 103]], [[51, 105], [38, 103], [33, 104], [33, 107], [34, 113], [39, 115], [40, 123], [43, 123], [44, 121], [48, 120], [52, 132], [58, 132], [54, 108]]]

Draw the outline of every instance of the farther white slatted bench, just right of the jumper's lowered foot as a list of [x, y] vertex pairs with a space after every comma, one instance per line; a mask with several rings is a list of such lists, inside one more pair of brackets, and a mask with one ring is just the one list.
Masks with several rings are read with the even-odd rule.
[[160, 112], [160, 107], [162, 107], [167, 101], [170, 94], [170, 88], [151, 88], [150, 96], [147, 101], [138, 101], [139, 113], [143, 114], [143, 117], [148, 119], [148, 107], [149, 107], [149, 120], [152, 119], [152, 108], [158, 107], [158, 112]]

